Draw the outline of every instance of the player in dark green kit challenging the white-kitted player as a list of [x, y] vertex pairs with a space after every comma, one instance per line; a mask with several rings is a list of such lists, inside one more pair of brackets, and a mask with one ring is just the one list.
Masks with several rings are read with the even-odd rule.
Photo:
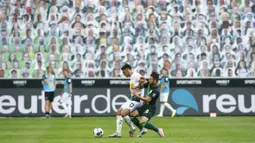
[[[160, 95], [160, 88], [158, 85], [159, 81], [159, 74], [156, 72], [152, 72], [149, 78], [149, 81], [147, 82], [145, 79], [140, 79], [140, 85], [143, 86], [145, 84], [148, 84], [148, 92], [146, 97], [139, 96], [139, 94], [136, 93], [136, 91], [133, 91], [133, 96], [136, 96], [140, 100], [144, 101], [144, 105], [137, 108], [135, 111], [133, 111], [130, 116], [133, 117], [132, 121], [133, 123], [139, 127], [145, 127], [147, 129], [153, 130], [160, 137], [164, 137], [163, 129], [157, 128], [149, 123], [150, 119], [155, 115], [156, 112], [156, 101], [159, 98]], [[140, 121], [136, 117], [141, 117]], [[142, 137], [146, 132], [140, 132], [138, 137]]]

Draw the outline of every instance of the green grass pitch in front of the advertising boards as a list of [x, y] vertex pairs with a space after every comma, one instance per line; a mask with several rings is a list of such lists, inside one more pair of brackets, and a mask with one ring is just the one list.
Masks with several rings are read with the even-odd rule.
[[[165, 138], [153, 131], [128, 138], [125, 123], [122, 138], [108, 138], [114, 117], [0, 118], [0, 143], [255, 143], [254, 117], [155, 117], [151, 123], [164, 129]], [[104, 130], [102, 138], [94, 138], [96, 127]]]

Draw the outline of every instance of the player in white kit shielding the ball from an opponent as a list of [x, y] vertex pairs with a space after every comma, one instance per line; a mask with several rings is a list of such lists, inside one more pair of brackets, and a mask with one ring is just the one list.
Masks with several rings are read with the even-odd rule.
[[[129, 87], [130, 92], [132, 93], [132, 91], [135, 90], [140, 96], [144, 96], [144, 89], [139, 83], [140, 78], [143, 78], [143, 77], [139, 73], [133, 72], [131, 66], [128, 64], [125, 64], [121, 68], [121, 70], [126, 77], [130, 77], [130, 87]], [[142, 105], [143, 105], [143, 101], [131, 95], [130, 100], [125, 102], [116, 112], [116, 116], [117, 116], [116, 132], [109, 135], [109, 137], [112, 137], [112, 138], [121, 137], [123, 119], [126, 121], [126, 123], [128, 124], [130, 128], [129, 136], [133, 137], [135, 132], [135, 127], [132, 125], [131, 119], [128, 115], [131, 112], [133, 112], [136, 108], [141, 107]], [[147, 132], [144, 128], [142, 130]]]

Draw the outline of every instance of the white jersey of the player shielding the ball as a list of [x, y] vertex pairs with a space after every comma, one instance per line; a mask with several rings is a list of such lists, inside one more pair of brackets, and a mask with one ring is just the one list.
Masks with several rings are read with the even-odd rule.
[[144, 96], [144, 89], [140, 89], [138, 87], [140, 78], [141, 78], [141, 75], [139, 73], [133, 72], [133, 74], [130, 77], [129, 88], [130, 88], [130, 91], [135, 90], [140, 96]]

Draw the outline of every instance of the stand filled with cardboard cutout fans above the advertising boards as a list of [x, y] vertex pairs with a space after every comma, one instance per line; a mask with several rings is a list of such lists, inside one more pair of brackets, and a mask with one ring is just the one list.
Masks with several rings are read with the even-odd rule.
[[1, 0], [5, 78], [254, 77], [255, 4], [250, 0]]

